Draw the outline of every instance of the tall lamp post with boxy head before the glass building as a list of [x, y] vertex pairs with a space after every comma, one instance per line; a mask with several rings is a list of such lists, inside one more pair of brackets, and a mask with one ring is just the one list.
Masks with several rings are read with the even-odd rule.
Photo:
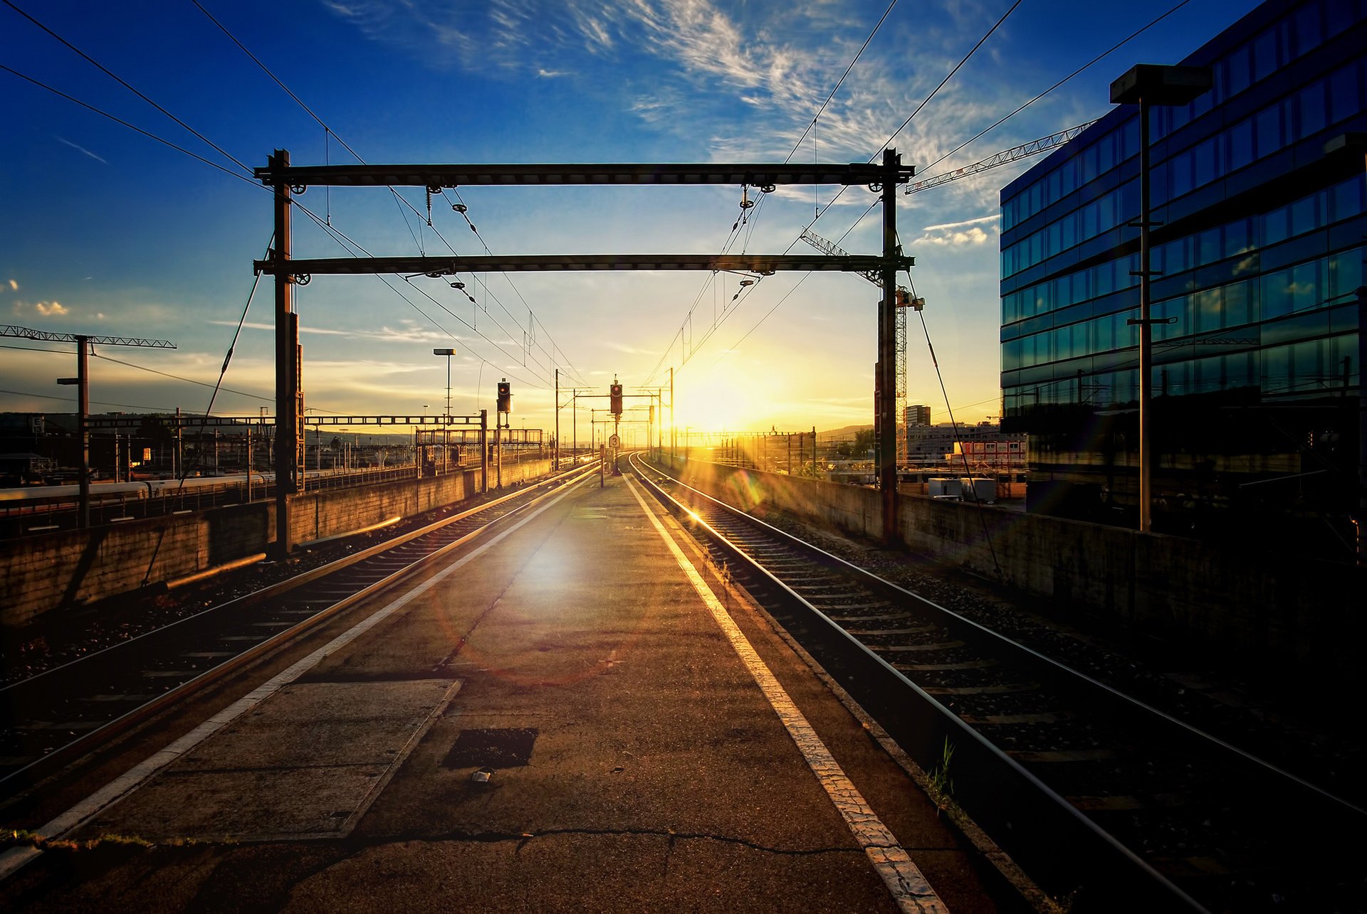
[[[1173, 67], [1141, 63], [1111, 83], [1111, 104], [1139, 105], [1139, 530], [1152, 529], [1152, 440], [1150, 400], [1154, 395], [1154, 320], [1150, 317], [1150, 163], [1148, 111], [1152, 105], [1185, 105], [1211, 86], [1208, 67]], [[1169, 322], [1167, 320], [1163, 321]]]

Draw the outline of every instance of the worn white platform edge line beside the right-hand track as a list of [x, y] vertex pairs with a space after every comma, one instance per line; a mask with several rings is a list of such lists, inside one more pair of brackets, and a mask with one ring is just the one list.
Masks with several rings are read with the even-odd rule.
[[629, 477], [623, 478], [626, 478], [627, 486], [632, 495], [636, 496], [637, 503], [640, 503], [645, 516], [651, 519], [656, 533], [660, 534], [660, 538], [664, 540], [664, 544], [674, 555], [674, 560], [678, 562], [679, 568], [688, 575], [693, 589], [697, 590], [703, 603], [711, 611], [716, 624], [731, 642], [731, 648], [735, 649], [735, 653], [755, 678], [755, 682], [764, 693], [764, 697], [793, 738], [793, 742], [797, 743], [802, 758], [807, 760], [812, 773], [816, 775], [816, 779], [826, 790], [826, 795], [831, 798], [835, 809], [845, 818], [850, 833], [887, 885], [898, 909], [915, 914], [949, 914], [949, 907], [935, 894], [935, 889], [931, 888], [921, 870], [912, 862], [906, 850], [898, 844], [897, 836], [889, 831], [864, 799], [863, 794], [858, 792], [858, 788], [845, 775], [839, 762], [835, 761], [835, 757], [831, 756], [831, 751], [822, 742], [820, 736], [816, 735], [812, 724], [807, 721], [787, 691], [764, 664], [764, 660], [756, 653], [749, 639], [746, 639], [745, 633], [735, 624], [735, 620], [731, 619], [731, 615], [703, 579], [703, 575], [697, 572], [693, 563], [688, 560], [684, 551], [674, 542], [674, 538], [664, 529], [664, 525], [660, 523], [660, 519], [651, 511], [636, 484]]

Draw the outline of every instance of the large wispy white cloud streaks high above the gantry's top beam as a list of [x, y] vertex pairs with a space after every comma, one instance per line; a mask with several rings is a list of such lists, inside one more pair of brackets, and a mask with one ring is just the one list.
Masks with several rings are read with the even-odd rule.
[[[789, 154], [811, 126], [874, 20], [852, 20], [842, 4], [720, 4], [716, 0], [324, 0], [368, 38], [399, 46], [436, 70], [507, 78], [571, 78], [585, 92], [617, 96], [660, 131], [679, 134], [719, 157]], [[802, 145], [833, 161], [874, 154], [925, 98], [995, 14], [958, 10], [920, 34], [904, 53], [905, 23], [894, 16]], [[930, 20], [930, 18], [927, 18]], [[962, 78], [962, 77], [961, 77]], [[1009, 81], [942, 90], [898, 138], [906, 160], [928, 163], [965, 131], [1016, 100]], [[921, 122], [934, 117], [934, 130]], [[798, 153], [804, 154], [804, 153]], [[805, 153], [811, 154], [811, 152]]]

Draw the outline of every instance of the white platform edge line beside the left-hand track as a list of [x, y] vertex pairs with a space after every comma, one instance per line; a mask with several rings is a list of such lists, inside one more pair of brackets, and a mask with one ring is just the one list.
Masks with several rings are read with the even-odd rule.
[[[507, 530], [495, 534], [489, 541], [481, 544], [480, 546], [461, 556], [442, 571], [436, 572], [418, 586], [413, 587], [399, 598], [385, 605], [383, 609], [379, 609], [366, 619], [362, 619], [360, 623], [357, 623], [347, 631], [343, 631], [340, 635], [338, 635], [328, 643], [323, 645], [321, 648], [310, 653], [308, 657], [303, 657], [302, 660], [294, 663], [288, 668], [276, 674], [272, 679], [253, 689], [250, 693], [247, 693], [238, 701], [232, 702], [219, 713], [213, 715], [212, 717], [205, 720], [202, 724], [200, 724], [190, 732], [185, 734], [183, 736], [180, 736], [171, 745], [165, 746], [164, 749], [159, 750], [157, 753], [153, 753], [152, 756], [138, 762], [119, 777], [113, 779], [96, 792], [86, 797], [83, 801], [81, 801], [67, 812], [62, 813], [52, 821], [46, 822], [42, 828], [38, 829], [38, 833], [49, 839], [60, 839], [74, 832], [75, 829], [81, 828], [92, 818], [98, 816], [101, 810], [107, 809], [108, 806], [112, 806], [113, 803], [119, 802], [133, 791], [138, 790], [146, 781], [152, 780], [152, 777], [163, 768], [176, 761], [186, 753], [191, 751], [195, 746], [198, 746], [205, 739], [216, 734], [219, 730], [232, 723], [246, 712], [252, 710], [258, 704], [273, 695], [276, 691], [279, 691], [280, 689], [290, 684], [291, 682], [302, 676], [305, 672], [316, 667], [319, 663], [323, 661], [324, 657], [327, 657], [331, 653], [335, 653], [336, 650], [340, 650], [342, 648], [346, 648], [349, 643], [364, 635], [366, 631], [369, 631], [370, 628], [380, 624], [391, 615], [402, 609], [405, 605], [407, 605], [409, 601], [422, 596], [424, 593], [435, 587], [439, 582], [444, 581], [457, 570], [459, 570], [469, 562], [474, 560], [476, 557], [491, 549], [504, 537], [511, 536], [515, 530], [530, 522], [539, 514], [554, 506], [565, 496], [570, 495], [574, 489], [580, 488], [581, 485], [584, 485], [584, 481], [570, 485], [558, 496], [555, 496], [541, 507], [536, 508], [534, 511], [529, 512], [525, 518], [522, 518], [517, 523], [511, 525]], [[21, 868], [23, 868], [26, 863], [29, 863], [33, 859], [37, 859], [40, 854], [42, 854], [42, 851], [33, 846], [11, 847], [10, 850], [4, 851], [3, 854], [0, 854], [0, 880], [8, 878]]]

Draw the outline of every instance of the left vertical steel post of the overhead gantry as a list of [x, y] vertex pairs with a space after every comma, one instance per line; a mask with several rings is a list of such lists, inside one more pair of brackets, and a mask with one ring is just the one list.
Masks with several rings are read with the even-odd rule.
[[[275, 150], [272, 169], [290, 167], [290, 152]], [[290, 534], [290, 496], [294, 493], [295, 447], [299, 426], [299, 398], [294, 374], [298, 352], [298, 324], [294, 317], [294, 290], [290, 260], [290, 186], [275, 184], [275, 552], [284, 557], [294, 551]]]

